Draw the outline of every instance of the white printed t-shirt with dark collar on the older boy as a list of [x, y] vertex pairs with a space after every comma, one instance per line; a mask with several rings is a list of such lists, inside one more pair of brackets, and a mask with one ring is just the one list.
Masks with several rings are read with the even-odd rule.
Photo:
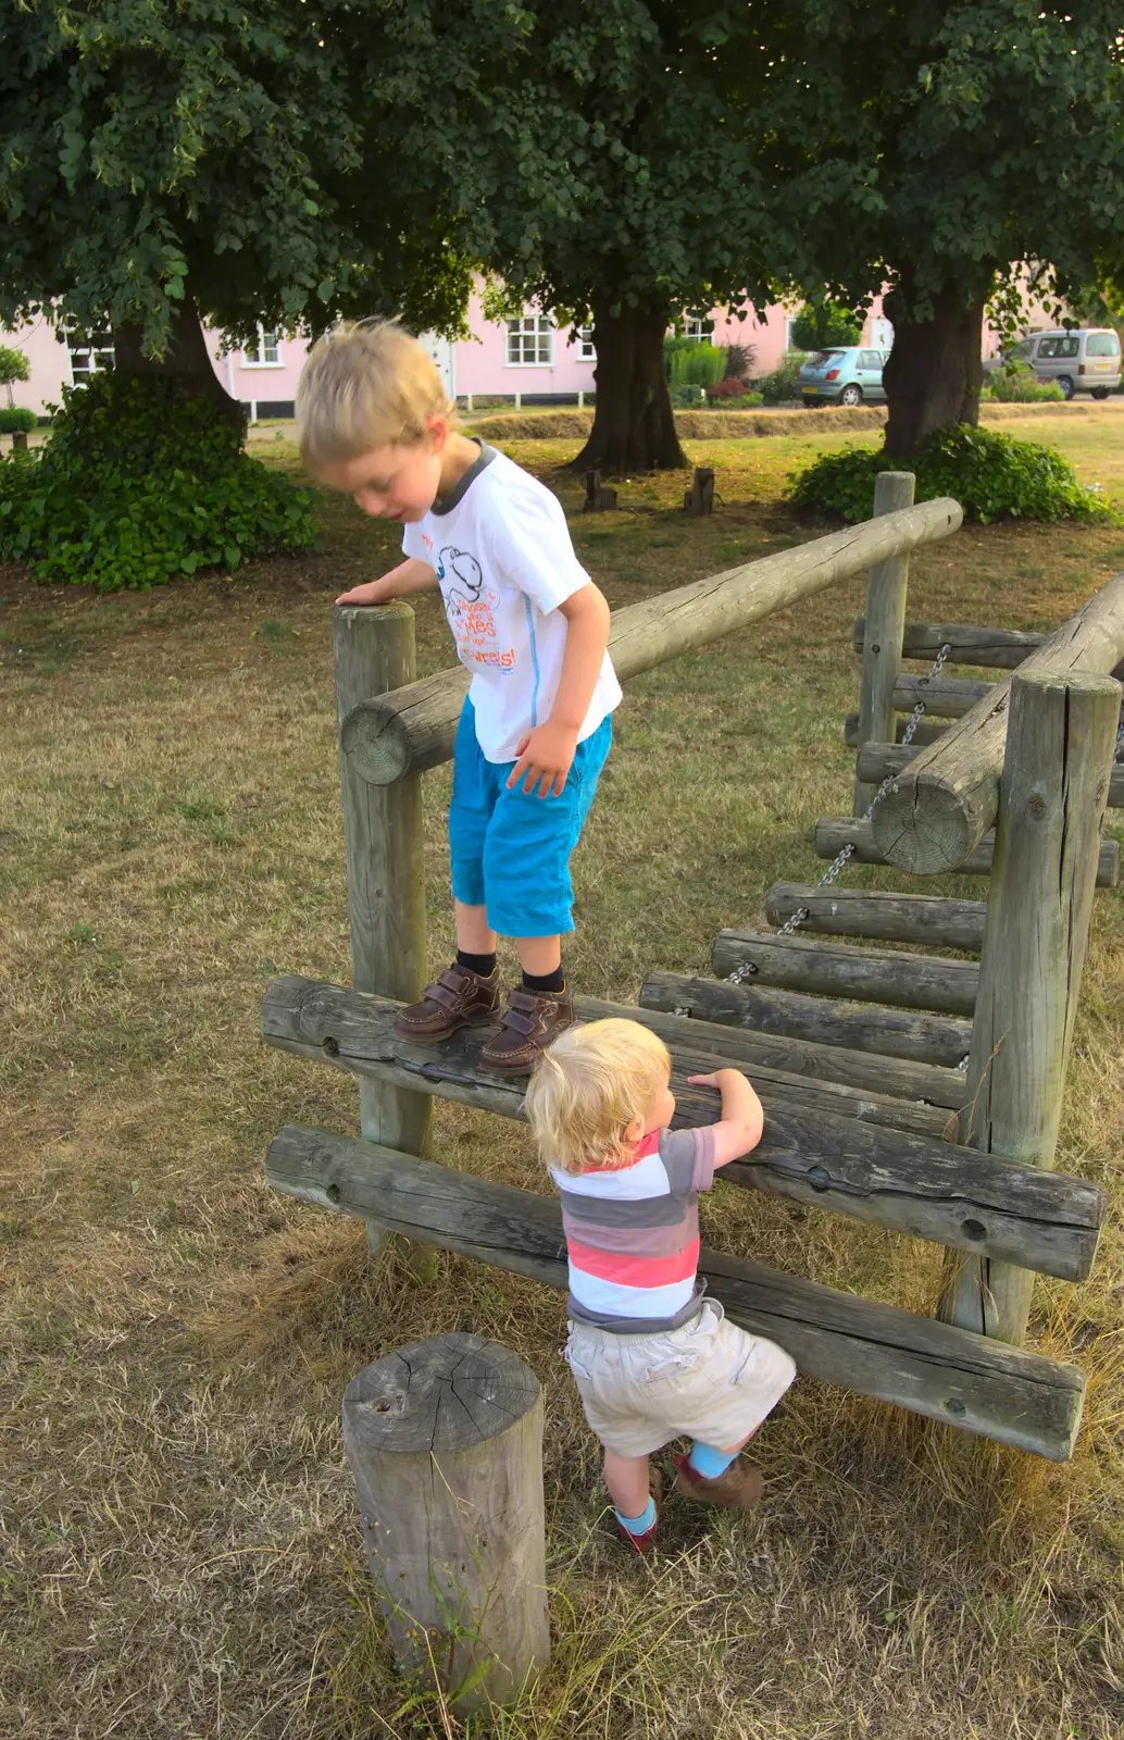
[[[574, 555], [557, 496], [492, 447], [425, 519], [404, 527], [402, 548], [437, 569], [445, 616], [477, 710], [487, 760], [515, 760], [532, 726], [550, 719], [562, 675], [567, 621], [559, 609], [590, 576]], [[578, 741], [621, 699], [605, 652]]]

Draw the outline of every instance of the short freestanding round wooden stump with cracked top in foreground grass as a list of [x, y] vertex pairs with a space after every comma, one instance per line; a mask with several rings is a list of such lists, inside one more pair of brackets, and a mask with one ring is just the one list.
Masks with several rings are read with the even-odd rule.
[[416, 1342], [351, 1380], [343, 1439], [400, 1667], [456, 1716], [513, 1702], [550, 1656], [538, 1378], [477, 1335]]

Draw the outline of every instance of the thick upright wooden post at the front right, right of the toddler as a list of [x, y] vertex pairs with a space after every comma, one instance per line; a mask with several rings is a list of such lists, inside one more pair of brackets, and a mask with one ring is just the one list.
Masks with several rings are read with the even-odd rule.
[[[983, 1154], [1054, 1164], [1119, 712], [1112, 677], [1011, 686], [960, 1136]], [[1032, 1286], [1025, 1268], [948, 1253], [938, 1315], [1018, 1345]]]

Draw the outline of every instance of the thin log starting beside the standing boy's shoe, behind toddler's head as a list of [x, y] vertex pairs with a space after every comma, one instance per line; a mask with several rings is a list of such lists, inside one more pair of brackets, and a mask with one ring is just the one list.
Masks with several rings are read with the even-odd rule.
[[[578, 999], [578, 1014], [583, 1021], [599, 1021], [621, 1013], [619, 1004], [600, 1002], [597, 997]], [[894, 1105], [908, 1101], [948, 1110], [964, 1105], [964, 1075], [957, 1068], [910, 1063], [905, 1058], [875, 1056], [870, 1051], [847, 1051], [846, 1046], [820, 1046], [788, 1034], [724, 1027], [719, 1021], [701, 1021], [668, 1009], [640, 1007], [628, 1009], [628, 1014], [659, 1034], [673, 1053], [701, 1049], [750, 1075], [764, 1067], [785, 1070], [793, 1082], [856, 1088], [863, 1094], [875, 1096], [889, 1094]]]

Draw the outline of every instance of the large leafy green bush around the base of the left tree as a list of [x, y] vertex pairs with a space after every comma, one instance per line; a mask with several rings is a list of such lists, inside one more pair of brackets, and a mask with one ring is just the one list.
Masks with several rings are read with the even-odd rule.
[[26, 557], [40, 581], [146, 592], [306, 550], [311, 503], [174, 379], [99, 374], [63, 388], [49, 442], [0, 461], [0, 557]]

